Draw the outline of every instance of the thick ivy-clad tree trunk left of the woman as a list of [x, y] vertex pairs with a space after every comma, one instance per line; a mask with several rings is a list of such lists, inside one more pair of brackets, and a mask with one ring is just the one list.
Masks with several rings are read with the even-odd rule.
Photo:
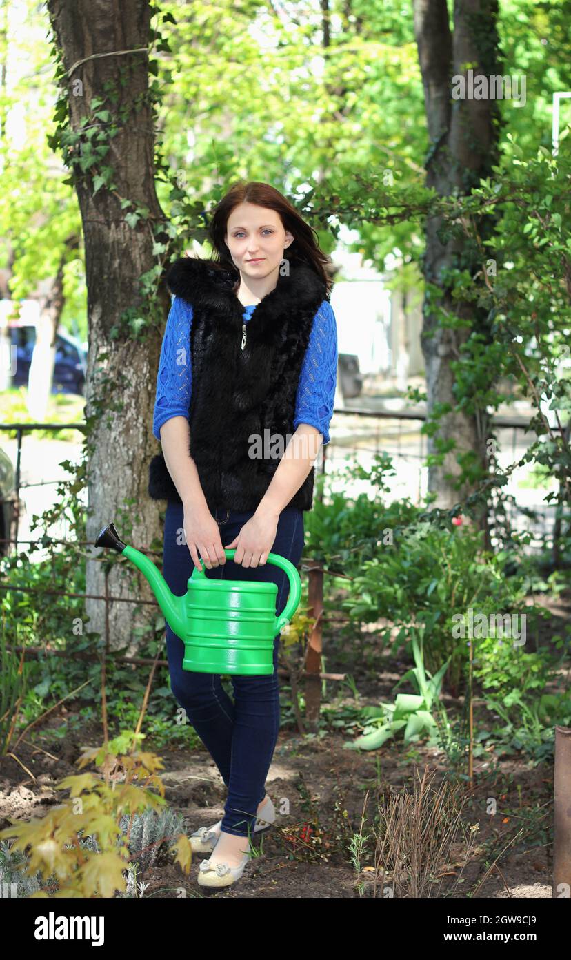
[[[80, 134], [69, 148], [76, 151], [76, 161], [68, 165], [73, 168], [80, 203], [87, 282], [87, 540], [95, 540], [101, 528], [113, 521], [126, 543], [144, 548], [160, 535], [157, 505], [147, 495], [148, 462], [156, 452], [151, 423], [160, 329], [159, 324], [149, 324], [145, 338], [126, 324], [119, 336], [111, 336], [111, 330], [127, 308], [137, 311], [134, 317], [139, 310], [145, 316], [148, 295], [141, 294], [139, 278], [157, 266], [153, 240], [167, 239], [165, 234], [153, 236], [152, 229], [153, 224], [156, 229], [164, 223], [164, 214], [154, 186], [153, 110], [148, 99], [151, 11], [147, 0], [121, 4], [48, 0], [48, 11], [66, 71], [69, 128]], [[104, 142], [109, 132], [109, 117], [97, 117], [103, 110], [110, 111], [116, 133], [106, 139], [106, 155], [81, 169], [79, 161], [89, 156], [89, 144]], [[89, 139], [87, 132], [93, 127], [99, 128], [101, 140]], [[94, 182], [96, 177], [104, 178], [109, 168], [110, 180], [103, 185]], [[133, 206], [122, 207], [122, 201], [148, 208], [134, 228], [126, 221]], [[168, 303], [161, 288], [163, 316]], [[91, 548], [87, 594], [104, 592], [103, 559], [111, 558], [106, 551]], [[151, 598], [145, 578], [125, 561], [113, 564], [108, 590], [133, 600]], [[104, 603], [86, 601], [86, 612], [87, 629], [104, 635]], [[148, 622], [148, 608], [139, 612], [131, 603], [111, 603], [110, 647], [126, 644], [132, 652], [134, 629]]]

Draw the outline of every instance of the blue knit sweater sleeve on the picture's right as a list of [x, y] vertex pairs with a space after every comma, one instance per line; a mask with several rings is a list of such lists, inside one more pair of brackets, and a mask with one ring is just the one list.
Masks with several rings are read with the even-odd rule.
[[337, 324], [329, 300], [323, 300], [313, 318], [308, 348], [300, 373], [295, 403], [294, 429], [300, 423], [314, 426], [329, 444], [337, 383]]

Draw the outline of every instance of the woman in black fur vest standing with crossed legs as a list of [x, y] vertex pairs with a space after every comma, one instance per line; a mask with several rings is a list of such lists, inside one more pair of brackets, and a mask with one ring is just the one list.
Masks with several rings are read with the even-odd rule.
[[[174, 297], [153, 422], [162, 452], [148, 484], [168, 501], [163, 574], [177, 595], [202, 563], [207, 577], [275, 583], [279, 614], [288, 581], [267, 555], [299, 564], [313, 461], [329, 442], [337, 340], [328, 258], [265, 183], [237, 183], [209, 232], [215, 256], [182, 257], [167, 277]], [[224, 548], [236, 549], [233, 560]], [[228, 787], [222, 820], [192, 835], [194, 851], [211, 853], [202, 886], [236, 882], [249, 838], [275, 820], [264, 783], [280, 727], [279, 642], [273, 675], [232, 676], [232, 701], [219, 676], [183, 671], [183, 642], [167, 626], [172, 693]]]

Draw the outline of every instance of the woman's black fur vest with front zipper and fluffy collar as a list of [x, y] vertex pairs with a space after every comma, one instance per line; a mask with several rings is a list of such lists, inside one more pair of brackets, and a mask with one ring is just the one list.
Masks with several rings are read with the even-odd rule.
[[[235, 282], [227, 267], [194, 257], [175, 260], [167, 275], [171, 292], [193, 306], [189, 452], [212, 513], [254, 511], [262, 500], [295, 433], [313, 317], [329, 299], [314, 271], [290, 263], [289, 274], [280, 271], [276, 287], [245, 324], [242, 349], [244, 308]], [[256, 455], [252, 435], [262, 442]], [[311, 509], [314, 473], [312, 466], [286, 507]], [[150, 462], [148, 495], [180, 503], [162, 452]]]

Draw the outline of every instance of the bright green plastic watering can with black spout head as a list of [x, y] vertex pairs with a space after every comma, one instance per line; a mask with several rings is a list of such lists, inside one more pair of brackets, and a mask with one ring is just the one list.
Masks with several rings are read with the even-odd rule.
[[[289, 579], [286, 607], [277, 616], [277, 584], [209, 579], [204, 569], [194, 567], [187, 592], [179, 597], [144, 553], [120, 540], [113, 523], [103, 527], [95, 545], [125, 554], [147, 577], [167, 623], [184, 642], [183, 670], [247, 676], [274, 672], [274, 637], [296, 612], [302, 593], [299, 573], [286, 557], [267, 555], [267, 563], [280, 566]], [[232, 560], [236, 550], [224, 553]]]

